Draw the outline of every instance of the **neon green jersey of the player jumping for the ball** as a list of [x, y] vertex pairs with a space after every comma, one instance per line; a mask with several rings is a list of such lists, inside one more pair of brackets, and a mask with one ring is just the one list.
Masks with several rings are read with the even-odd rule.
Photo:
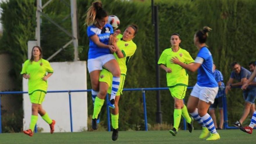
[[118, 56], [114, 53], [114, 56], [120, 66], [121, 74], [126, 74], [127, 72], [127, 63], [129, 62], [131, 56], [135, 53], [137, 46], [136, 44], [130, 40], [130, 41], [124, 41], [122, 40], [121, 34], [117, 35], [118, 41], [116, 42], [118, 48], [122, 51], [124, 57], [118, 58]]

